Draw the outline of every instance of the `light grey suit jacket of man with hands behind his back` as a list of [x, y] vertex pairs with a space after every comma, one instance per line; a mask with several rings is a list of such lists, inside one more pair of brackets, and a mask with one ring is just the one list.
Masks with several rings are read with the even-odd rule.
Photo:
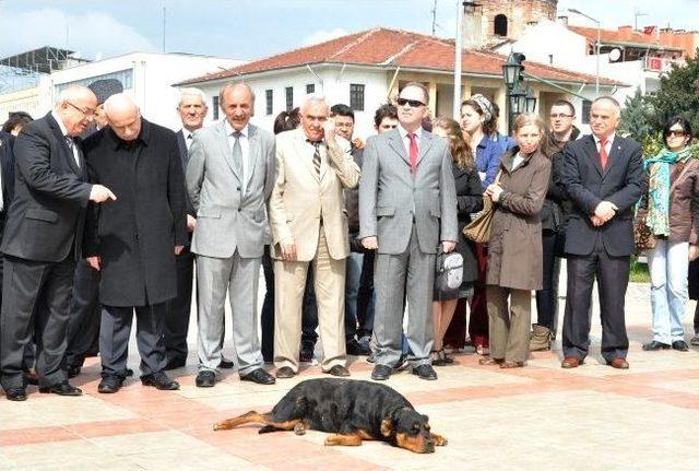
[[194, 133], [187, 189], [197, 210], [191, 250], [205, 257], [262, 257], [269, 244], [265, 202], [274, 184], [274, 137], [248, 125], [249, 179], [242, 191], [228, 145], [225, 121]]

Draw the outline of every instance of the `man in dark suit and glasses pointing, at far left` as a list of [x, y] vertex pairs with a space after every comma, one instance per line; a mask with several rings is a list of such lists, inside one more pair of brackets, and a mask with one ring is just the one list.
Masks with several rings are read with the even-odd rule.
[[[8, 399], [26, 399], [23, 353], [36, 326], [39, 391], [79, 396], [62, 369], [68, 303], [81, 255], [87, 201], [114, 199], [90, 185], [78, 137], [95, 113], [95, 95], [84, 86], [63, 90], [56, 108], [28, 123], [14, 144], [15, 193], [0, 250], [4, 279], [0, 368]], [[36, 319], [35, 319], [36, 317]]]

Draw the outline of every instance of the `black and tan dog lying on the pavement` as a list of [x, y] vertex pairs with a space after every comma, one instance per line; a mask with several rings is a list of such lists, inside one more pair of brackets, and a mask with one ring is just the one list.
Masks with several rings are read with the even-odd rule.
[[325, 445], [362, 445], [382, 440], [417, 454], [430, 454], [447, 439], [433, 434], [427, 415], [419, 414], [403, 396], [377, 382], [353, 379], [308, 379], [296, 385], [264, 414], [250, 411], [214, 425], [225, 431], [260, 423], [259, 433], [306, 429], [329, 432]]

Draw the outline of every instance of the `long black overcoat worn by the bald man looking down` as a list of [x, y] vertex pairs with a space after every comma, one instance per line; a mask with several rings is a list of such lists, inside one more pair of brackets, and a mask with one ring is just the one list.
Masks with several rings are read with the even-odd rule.
[[91, 205], [85, 255], [99, 256], [99, 301], [154, 305], [175, 297], [175, 246], [187, 244], [185, 180], [175, 132], [142, 119], [127, 144], [109, 128], [85, 141], [90, 178], [117, 197]]

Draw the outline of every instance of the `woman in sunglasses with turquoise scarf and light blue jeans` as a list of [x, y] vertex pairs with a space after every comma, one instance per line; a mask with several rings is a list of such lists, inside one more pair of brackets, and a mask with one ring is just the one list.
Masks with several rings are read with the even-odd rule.
[[663, 149], [644, 162], [648, 193], [642, 199], [645, 224], [655, 236], [648, 252], [651, 273], [653, 340], [643, 350], [674, 349], [686, 352], [683, 318], [687, 303], [689, 261], [699, 256], [699, 154], [688, 146], [689, 122], [671, 118], [663, 129]]

